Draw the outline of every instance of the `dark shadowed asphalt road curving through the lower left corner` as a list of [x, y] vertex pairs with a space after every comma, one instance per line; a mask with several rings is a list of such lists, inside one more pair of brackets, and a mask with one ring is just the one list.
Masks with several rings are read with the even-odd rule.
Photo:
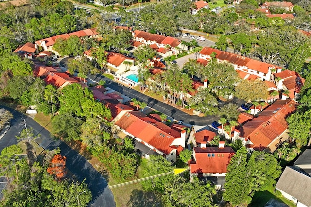
[[27, 117], [26, 115], [15, 111], [11, 108], [1, 106], [9, 110], [14, 118], [10, 121], [11, 127], [7, 133], [0, 140], [0, 152], [12, 144], [17, 144], [16, 135], [25, 128], [23, 120], [25, 119], [27, 127], [34, 129], [35, 135], [40, 135], [40, 138], [35, 141], [44, 149], [52, 150], [59, 147], [61, 154], [67, 157], [66, 167], [73, 173], [79, 181], [85, 179], [85, 183], [92, 192], [92, 201], [88, 206], [90, 207], [115, 207], [115, 201], [111, 190], [108, 188], [107, 181], [98, 173], [93, 166], [76, 151], [72, 150], [67, 144], [59, 139], [53, 139], [49, 131], [40, 126], [36, 121]]

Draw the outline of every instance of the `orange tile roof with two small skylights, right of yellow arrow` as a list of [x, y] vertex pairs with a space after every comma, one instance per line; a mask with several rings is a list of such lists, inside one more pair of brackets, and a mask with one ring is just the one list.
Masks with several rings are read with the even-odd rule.
[[193, 151], [191, 173], [226, 173], [231, 157], [235, 154], [231, 147], [194, 147]]

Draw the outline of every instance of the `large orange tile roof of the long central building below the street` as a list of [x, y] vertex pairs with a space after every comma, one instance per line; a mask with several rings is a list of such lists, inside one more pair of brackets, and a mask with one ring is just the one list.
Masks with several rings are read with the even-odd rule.
[[181, 136], [180, 132], [140, 111], [125, 113], [115, 124], [166, 155], [172, 151], [171, 144], [174, 139]]

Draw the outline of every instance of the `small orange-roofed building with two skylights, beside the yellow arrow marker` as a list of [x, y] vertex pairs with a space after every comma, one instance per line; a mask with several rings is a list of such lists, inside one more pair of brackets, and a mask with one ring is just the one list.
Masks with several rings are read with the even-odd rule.
[[220, 141], [218, 147], [194, 147], [193, 159], [188, 162], [190, 180], [197, 176], [223, 188], [227, 166], [234, 154], [231, 147], [225, 147], [224, 141]]

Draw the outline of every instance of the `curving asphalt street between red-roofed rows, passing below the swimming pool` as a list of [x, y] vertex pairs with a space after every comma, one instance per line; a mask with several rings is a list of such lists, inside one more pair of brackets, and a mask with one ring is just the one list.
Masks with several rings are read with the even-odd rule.
[[[199, 117], [196, 115], [189, 115], [181, 110], [178, 110], [174, 108], [171, 105], [165, 104], [159, 100], [155, 100], [149, 96], [144, 95], [143, 93], [140, 93], [136, 90], [129, 89], [127, 87], [121, 86], [117, 84], [116, 82], [111, 81], [111, 79], [106, 78], [100, 74], [98, 75], [91, 75], [88, 76], [88, 83], [92, 83], [93, 81], [99, 82], [100, 80], [106, 81], [106, 86], [120, 92], [121, 94], [129, 97], [129, 98], [136, 98], [139, 101], [143, 101], [148, 104], [149, 107], [160, 111], [169, 117], [172, 117], [175, 120], [184, 120], [185, 123], [191, 124], [191, 125], [200, 125], [200, 126], [206, 126], [210, 125], [213, 121], [218, 121], [219, 118], [214, 115], [209, 115], [206, 117]], [[239, 100], [239, 99], [232, 99], [230, 102], [236, 103], [236, 104], [244, 104], [245, 101]]]

